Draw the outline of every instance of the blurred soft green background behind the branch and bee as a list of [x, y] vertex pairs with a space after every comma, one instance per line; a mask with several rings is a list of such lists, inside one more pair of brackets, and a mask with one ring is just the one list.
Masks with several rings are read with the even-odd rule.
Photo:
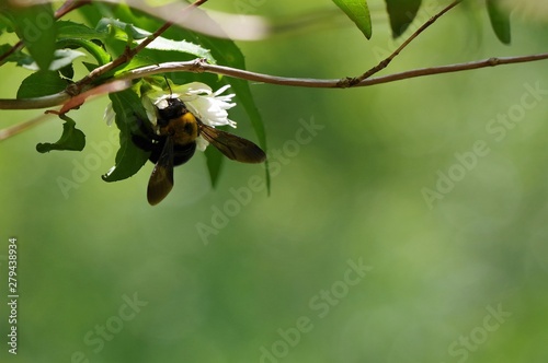
[[[332, 9], [243, 2], [277, 24]], [[372, 9], [370, 42], [344, 19], [286, 30], [239, 44], [248, 69], [359, 74], [395, 49], [381, 2]], [[483, 12], [450, 12], [384, 74], [547, 50], [538, 20], [516, 14], [510, 47], [488, 22]], [[106, 97], [71, 115], [87, 134], [81, 153], [35, 151], [57, 140], [55, 120], [2, 142], [0, 361], [546, 362], [548, 92], [534, 98], [527, 89], [548, 90], [546, 69], [525, 63], [359, 90], [251, 84], [281, 165], [270, 196], [242, 191], [264, 178], [261, 166], [232, 162], [212, 189], [203, 155], [176, 168], [173, 191], [155, 208], [146, 201], [152, 164], [102, 182], [117, 132], [103, 122]], [[2, 67], [0, 96], [13, 97], [26, 74]], [[524, 97], [534, 105], [524, 107]], [[3, 110], [2, 127], [37, 114]], [[239, 107], [230, 115], [238, 134], [256, 140]], [[321, 130], [296, 142], [312, 121]], [[64, 195], [59, 178], [72, 179], [76, 165], [96, 155]], [[437, 198], [427, 201], [425, 188]], [[215, 233], [204, 238], [198, 225]], [[11, 236], [16, 358], [7, 352]]]

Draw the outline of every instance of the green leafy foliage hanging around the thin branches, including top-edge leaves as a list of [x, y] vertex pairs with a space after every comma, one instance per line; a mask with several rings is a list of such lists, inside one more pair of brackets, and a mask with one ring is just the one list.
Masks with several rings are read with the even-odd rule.
[[[333, 0], [333, 2], [368, 39], [372, 37], [373, 24], [367, 1]], [[7, 33], [14, 33], [19, 38], [19, 42], [0, 45], [0, 50], [3, 52], [1, 58], [3, 63], [14, 62], [33, 71], [21, 82], [18, 98], [45, 97], [64, 91], [71, 94], [75, 85], [81, 85], [81, 87], [77, 87], [77, 93], [80, 93], [113, 79], [123, 78], [129, 70], [167, 61], [202, 58], [210, 65], [218, 62], [240, 70], [246, 69], [243, 55], [232, 40], [181, 27], [176, 30], [176, 33], [165, 32], [165, 35], [152, 35], [162, 26], [163, 22], [148, 16], [137, 9], [125, 4], [105, 7], [95, 2], [87, 3], [83, 7], [75, 4], [75, 2], [67, 2], [57, 12], [54, 12], [54, 8], [49, 3], [27, 8], [1, 9], [0, 28]], [[421, 0], [386, 0], [386, 10], [395, 38], [406, 32], [409, 24], [415, 19], [421, 5]], [[85, 23], [60, 19], [65, 13], [76, 9], [87, 20]], [[507, 12], [500, 7], [498, 0], [488, 0], [487, 9], [496, 36], [502, 43], [509, 44], [511, 33]], [[139, 49], [135, 54], [128, 52], [129, 49], [136, 49], [142, 42], [151, 39], [153, 40], [147, 44], [144, 49]], [[93, 61], [90, 62], [90, 58], [84, 57], [85, 55], [91, 56]], [[113, 61], [122, 61], [115, 67], [107, 68], [105, 72], [98, 72], [90, 77], [89, 80], [85, 80], [87, 83], [81, 83], [82, 80], [75, 79], [73, 70], [73, 66], [79, 59], [84, 59], [82, 63], [89, 72], [113, 65]], [[165, 77], [175, 83], [199, 80], [217, 86], [230, 84], [251, 120], [259, 143], [263, 149], [266, 149], [264, 125], [248, 82], [236, 78], [217, 78], [213, 74], [190, 72], [184, 74], [170, 73]], [[142, 82], [146, 83], [147, 80], [142, 80]], [[138, 90], [140, 84], [140, 82], [136, 82], [126, 91], [111, 94], [113, 109], [116, 114], [116, 126], [119, 129], [121, 149], [116, 155], [115, 168], [111, 169], [104, 177], [106, 182], [121, 180], [132, 176], [147, 160], [147, 153], [135, 147], [130, 138], [132, 130], [137, 128], [135, 115], [142, 113]], [[77, 106], [80, 106], [80, 103]], [[72, 106], [64, 108], [62, 113], [70, 110], [70, 108]], [[137, 109], [137, 112], [128, 113], [128, 109]], [[82, 150], [83, 133], [75, 127], [75, 121], [67, 120], [60, 140], [53, 144], [38, 144], [38, 151]], [[219, 157], [219, 154], [212, 150], [206, 153], [206, 156], [210, 180], [215, 185], [224, 157]], [[266, 184], [270, 188], [269, 167], [265, 167], [265, 171]]]

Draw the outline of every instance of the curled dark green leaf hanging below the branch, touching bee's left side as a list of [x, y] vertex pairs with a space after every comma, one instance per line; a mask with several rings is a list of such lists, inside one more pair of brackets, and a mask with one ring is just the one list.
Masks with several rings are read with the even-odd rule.
[[105, 182], [117, 182], [137, 173], [150, 155], [132, 141], [132, 134], [138, 127], [137, 117], [147, 119], [147, 116], [139, 96], [132, 89], [111, 93], [109, 97], [116, 115], [116, 126], [119, 129], [119, 150], [116, 153], [115, 166], [102, 178]]

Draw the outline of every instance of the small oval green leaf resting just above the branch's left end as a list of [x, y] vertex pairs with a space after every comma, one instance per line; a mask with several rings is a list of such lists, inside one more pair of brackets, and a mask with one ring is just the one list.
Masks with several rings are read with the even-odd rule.
[[55, 71], [34, 72], [23, 80], [18, 98], [42, 97], [64, 91], [68, 83]]

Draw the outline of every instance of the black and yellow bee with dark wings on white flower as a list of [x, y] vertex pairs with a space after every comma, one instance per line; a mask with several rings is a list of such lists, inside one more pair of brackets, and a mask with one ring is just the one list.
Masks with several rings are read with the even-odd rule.
[[180, 98], [171, 96], [165, 101], [163, 108], [156, 106], [156, 129], [150, 122], [137, 118], [146, 137], [133, 134], [134, 143], [149, 151], [149, 161], [156, 164], [147, 188], [150, 206], [161, 202], [171, 191], [173, 167], [186, 163], [194, 155], [199, 136], [230, 160], [241, 163], [262, 163], [266, 160], [264, 151], [253, 142], [205, 125]]

